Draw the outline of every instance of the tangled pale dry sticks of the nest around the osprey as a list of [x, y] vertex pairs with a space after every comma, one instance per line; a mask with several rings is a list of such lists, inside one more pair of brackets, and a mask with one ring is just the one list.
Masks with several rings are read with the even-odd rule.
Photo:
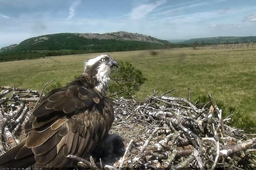
[[[24, 138], [23, 125], [40, 99], [36, 90], [0, 87], [0, 155]], [[11, 93], [12, 92], [12, 93]], [[88, 160], [69, 155], [85, 168], [254, 169], [256, 138], [228, 125], [209, 95], [199, 108], [168, 93], [143, 102], [113, 99], [115, 121], [108, 138]], [[94, 159], [93, 159], [94, 158]]]

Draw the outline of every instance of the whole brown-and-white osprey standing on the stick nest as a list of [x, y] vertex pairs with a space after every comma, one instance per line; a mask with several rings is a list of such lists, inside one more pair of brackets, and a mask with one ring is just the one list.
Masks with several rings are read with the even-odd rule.
[[0, 168], [72, 167], [77, 162], [67, 155], [90, 155], [114, 120], [104, 96], [112, 66], [118, 63], [109, 55], [88, 59], [81, 76], [44, 96], [26, 122], [26, 139], [0, 156]]

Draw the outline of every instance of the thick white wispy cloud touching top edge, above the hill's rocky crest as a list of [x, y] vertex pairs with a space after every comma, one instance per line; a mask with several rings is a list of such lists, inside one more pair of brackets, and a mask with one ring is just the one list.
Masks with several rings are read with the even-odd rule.
[[154, 8], [157, 8], [157, 6], [162, 5], [165, 2], [167, 2], [167, 0], [159, 0], [150, 4], [139, 5], [133, 8], [130, 13], [130, 19], [142, 19], [144, 16], [152, 12]]

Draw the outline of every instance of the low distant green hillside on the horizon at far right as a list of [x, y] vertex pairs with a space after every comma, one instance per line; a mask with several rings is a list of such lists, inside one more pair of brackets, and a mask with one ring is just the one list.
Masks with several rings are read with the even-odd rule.
[[206, 37], [206, 38], [198, 38], [198, 39], [189, 39], [183, 42], [185, 44], [192, 44], [194, 42], [204, 42], [206, 44], [214, 44], [214, 43], [246, 43], [246, 42], [256, 42], [256, 36], [217, 36], [217, 37]]

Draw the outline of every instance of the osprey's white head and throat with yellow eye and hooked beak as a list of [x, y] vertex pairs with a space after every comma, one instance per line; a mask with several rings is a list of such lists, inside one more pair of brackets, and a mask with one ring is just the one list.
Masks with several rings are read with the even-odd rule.
[[109, 55], [102, 54], [94, 59], [85, 61], [84, 74], [96, 79], [97, 84], [95, 84], [95, 88], [101, 93], [105, 93], [109, 85], [109, 75], [113, 66], [118, 66], [117, 61]]

